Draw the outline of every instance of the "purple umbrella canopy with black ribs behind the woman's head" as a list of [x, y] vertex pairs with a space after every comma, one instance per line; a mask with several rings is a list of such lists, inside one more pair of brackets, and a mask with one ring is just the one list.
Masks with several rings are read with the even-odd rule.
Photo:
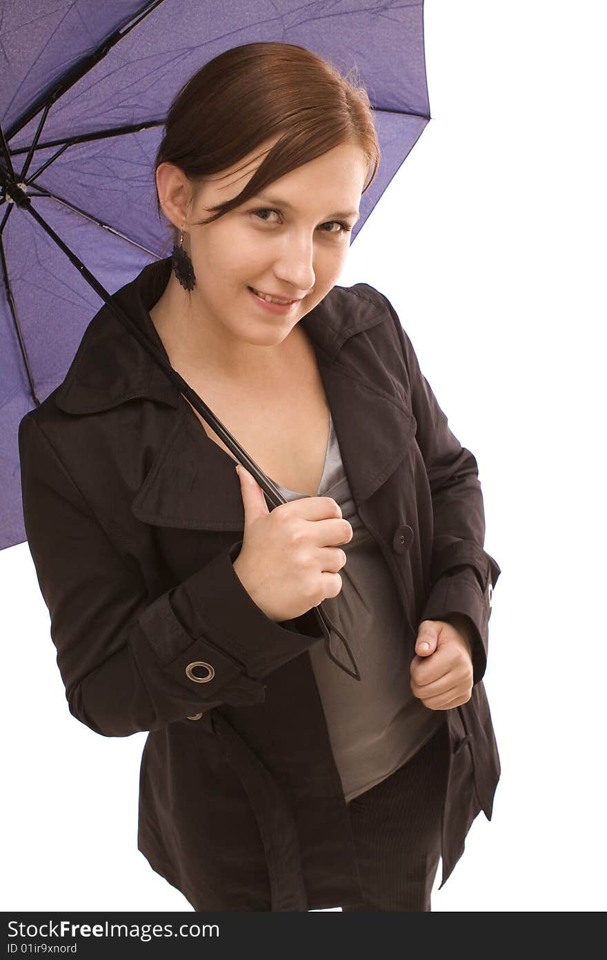
[[[0, 549], [26, 540], [19, 421], [62, 381], [108, 291], [170, 253], [153, 161], [181, 86], [222, 51], [259, 40], [308, 47], [340, 70], [356, 65], [382, 162], [354, 240], [430, 120], [423, 6], [4, 0]], [[193, 391], [187, 396], [208, 412]]]

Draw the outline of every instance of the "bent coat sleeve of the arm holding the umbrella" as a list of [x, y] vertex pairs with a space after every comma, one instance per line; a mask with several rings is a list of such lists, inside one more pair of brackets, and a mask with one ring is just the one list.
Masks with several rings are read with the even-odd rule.
[[128, 736], [222, 704], [261, 704], [268, 673], [321, 638], [314, 608], [276, 623], [253, 602], [232, 565], [243, 540], [150, 597], [32, 414], [18, 443], [25, 531], [59, 672], [70, 712], [91, 730]]

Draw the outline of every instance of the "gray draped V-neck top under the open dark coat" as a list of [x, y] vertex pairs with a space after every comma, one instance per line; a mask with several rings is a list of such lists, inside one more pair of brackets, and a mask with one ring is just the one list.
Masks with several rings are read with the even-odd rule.
[[[327, 656], [325, 645], [309, 651], [333, 754], [346, 802], [390, 774], [419, 750], [445, 722], [444, 710], [424, 707], [410, 688], [415, 637], [406, 635], [401, 600], [384, 555], [359, 516], [341, 462], [329, 412], [329, 443], [317, 496], [337, 500], [352, 526], [352, 540], [339, 544], [347, 560], [342, 587], [322, 606], [347, 639], [361, 672], [349, 677]], [[307, 496], [276, 483], [286, 500]], [[347, 660], [341, 644], [339, 660]]]

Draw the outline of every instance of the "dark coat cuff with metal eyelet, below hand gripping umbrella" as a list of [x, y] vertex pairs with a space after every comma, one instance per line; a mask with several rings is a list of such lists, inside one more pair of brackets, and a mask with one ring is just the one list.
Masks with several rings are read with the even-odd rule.
[[[188, 685], [199, 683], [190, 676], [193, 673], [204, 683], [199, 692], [213, 699], [221, 697], [225, 684], [241, 674], [237, 681], [243, 686], [243, 702], [248, 697], [258, 702], [263, 691], [256, 682], [324, 635], [315, 608], [276, 623], [254, 603], [233, 566], [242, 545], [243, 540], [233, 543], [164, 593], [139, 621], [154, 652], [175, 678]], [[186, 668], [197, 660], [203, 665], [188, 674]], [[209, 666], [214, 671], [210, 677]]]

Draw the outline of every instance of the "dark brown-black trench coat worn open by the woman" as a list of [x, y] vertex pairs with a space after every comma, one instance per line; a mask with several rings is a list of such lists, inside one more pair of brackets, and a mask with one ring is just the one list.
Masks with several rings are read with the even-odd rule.
[[[165, 356], [148, 310], [170, 270], [170, 258], [153, 263], [116, 294]], [[407, 629], [452, 612], [474, 626], [472, 697], [446, 711], [442, 886], [479, 811], [491, 819], [501, 772], [481, 679], [500, 567], [483, 550], [477, 461], [372, 286], [334, 287], [301, 323]], [[106, 305], [63, 382], [21, 420], [19, 453], [69, 709], [104, 736], [149, 731], [138, 850], [197, 910], [361, 900], [308, 654], [324, 643], [314, 609], [275, 623], [252, 601], [232, 567], [245, 522], [233, 461]], [[196, 661], [212, 665], [208, 683], [191, 678]]]

